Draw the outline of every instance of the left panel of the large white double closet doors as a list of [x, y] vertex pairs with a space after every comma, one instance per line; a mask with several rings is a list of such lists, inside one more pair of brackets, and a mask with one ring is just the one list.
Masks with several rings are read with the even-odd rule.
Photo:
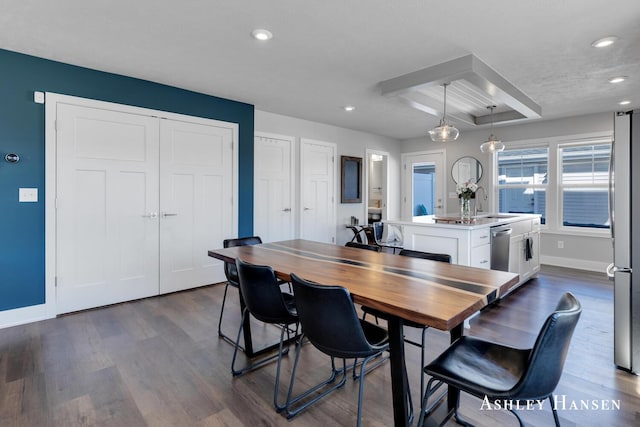
[[57, 312], [158, 293], [158, 122], [58, 104]]

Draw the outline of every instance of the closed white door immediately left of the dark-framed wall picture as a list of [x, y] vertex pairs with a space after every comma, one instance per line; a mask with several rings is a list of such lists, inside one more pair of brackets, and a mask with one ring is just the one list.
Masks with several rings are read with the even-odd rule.
[[300, 237], [336, 241], [336, 145], [302, 139], [300, 144]]

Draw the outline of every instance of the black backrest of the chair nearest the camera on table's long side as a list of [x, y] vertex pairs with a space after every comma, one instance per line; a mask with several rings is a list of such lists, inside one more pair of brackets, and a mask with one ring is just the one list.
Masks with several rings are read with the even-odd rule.
[[318, 350], [338, 358], [370, 355], [371, 345], [347, 289], [319, 285], [295, 273], [291, 283], [302, 331]]

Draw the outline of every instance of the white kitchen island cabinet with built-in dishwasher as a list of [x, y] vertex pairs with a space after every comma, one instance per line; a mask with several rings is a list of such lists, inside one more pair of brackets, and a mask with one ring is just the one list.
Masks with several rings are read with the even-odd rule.
[[520, 275], [512, 289], [540, 270], [540, 215], [485, 214], [469, 223], [427, 215], [387, 223], [401, 228], [406, 249], [448, 254], [454, 264], [487, 269], [491, 268], [491, 231], [506, 227], [511, 229], [509, 271]]

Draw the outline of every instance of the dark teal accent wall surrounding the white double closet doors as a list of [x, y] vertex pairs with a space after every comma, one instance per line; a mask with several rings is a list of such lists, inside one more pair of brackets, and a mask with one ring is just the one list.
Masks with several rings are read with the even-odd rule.
[[[253, 234], [253, 105], [2, 49], [0, 70], [0, 311], [45, 302], [45, 108], [34, 91], [238, 123], [238, 234]], [[18, 203], [20, 187], [37, 188], [38, 202]]]

